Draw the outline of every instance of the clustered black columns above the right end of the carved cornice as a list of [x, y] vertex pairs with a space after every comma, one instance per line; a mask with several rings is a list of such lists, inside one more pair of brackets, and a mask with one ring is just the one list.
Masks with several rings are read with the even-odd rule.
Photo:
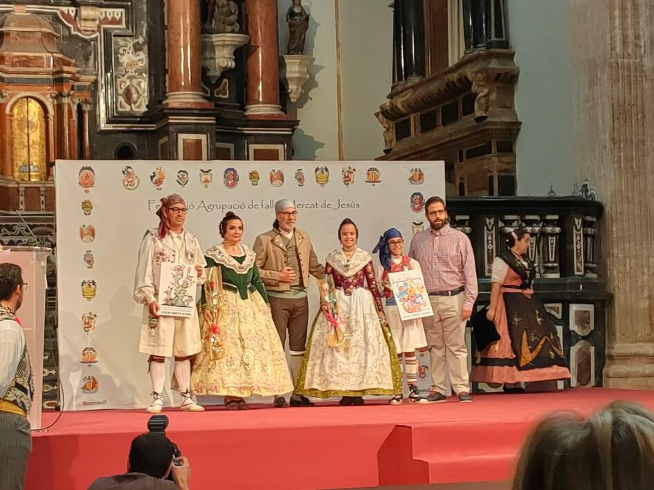
[[509, 48], [504, 0], [462, 0], [466, 53]]

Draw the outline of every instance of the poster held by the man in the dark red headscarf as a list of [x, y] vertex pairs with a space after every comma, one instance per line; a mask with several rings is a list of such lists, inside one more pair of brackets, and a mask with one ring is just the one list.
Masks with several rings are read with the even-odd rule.
[[197, 292], [197, 271], [193, 265], [161, 263], [159, 314], [162, 317], [192, 318]]

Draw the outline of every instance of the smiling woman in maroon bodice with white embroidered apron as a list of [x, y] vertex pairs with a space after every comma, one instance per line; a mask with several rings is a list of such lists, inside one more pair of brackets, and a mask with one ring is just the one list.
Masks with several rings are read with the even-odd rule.
[[401, 393], [401, 369], [385, 326], [372, 257], [356, 247], [358, 230], [345, 219], [338, 228], [342, 248], [327, 256], [325, 276], [333, 282], [338, 310], [337, 342], [329, 305], [321, 305], [311, 328], [296, 392], [318, 398], [343, 397], [341, 405], [363, 405], [363, 395]]

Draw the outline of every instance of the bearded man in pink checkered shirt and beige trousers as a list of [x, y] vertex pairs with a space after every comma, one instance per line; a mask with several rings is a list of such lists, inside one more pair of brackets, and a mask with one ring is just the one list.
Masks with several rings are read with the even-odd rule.
[[420, 263], [434, 310], [433, 319], [424, 319], [432, 377], [427, 399], [435, 403], [447, 401], [447, 364], [452, 390], [459, 401], [472, 402], [466, 322], [478, 292], [475, 256], [469, 238], [448, 225], [442, 198], [427, 200], [425, 216], [430, 228], [413, 236], [409, 256]]

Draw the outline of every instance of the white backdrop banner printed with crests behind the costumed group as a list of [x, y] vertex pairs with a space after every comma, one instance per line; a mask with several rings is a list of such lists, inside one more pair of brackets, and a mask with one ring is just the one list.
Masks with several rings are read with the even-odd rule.
[[[227, 211], [243, 219], [243, 241], [252, 246], [271, 229], [275, 201], [293, 199], [297, 226], [324, 261], [339, 245], [344, 218], [358, 226], [359, 247], [372, 251], [385, 229], [396, 227], [408, 252], [411, 236], [428, 227], [424, 202], [445, 194], [443, 162], [60, 160], [55, 185], [65, 410], [149, 404], [147, 356], [138, 352], [143, 307], [132, 292], [138, 247], [145, 230], [158, 225], [161, 197], [185, 198], [186, 228], [203, 249], [221, 241], [218, 223]], [[315, 282], [309, 299], [313, 318]]]

